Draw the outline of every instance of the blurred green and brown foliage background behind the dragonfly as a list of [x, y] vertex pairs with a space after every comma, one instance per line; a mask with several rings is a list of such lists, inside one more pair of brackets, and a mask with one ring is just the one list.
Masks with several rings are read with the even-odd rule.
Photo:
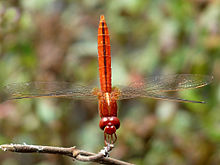
[[[120, 101], [121, 128], [110, 155], [136, 164], [220, 164], [218, 0], [1, 0], [1, 86], [29, 81], [98, 86], [100, 14], [111, 37], [113, 85], [155, 74], [215, 77], [211, 85], [179, 93], [207, 104]], [[98, 124], [97, 102], [23, 99], [0, 104], [0, 144], [76, 146], [98, 152], [104, 145]], [[0, 162], [72, 164], [62, 156], [3, 151]]]

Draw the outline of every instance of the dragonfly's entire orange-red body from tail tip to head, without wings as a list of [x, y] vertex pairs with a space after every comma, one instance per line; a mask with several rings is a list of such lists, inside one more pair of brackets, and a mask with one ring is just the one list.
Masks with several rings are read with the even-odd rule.
[[117, 139], [116, 130], [120, 126], [117, 118], [117, 95], [119, 91], [112, 89], [111, 80], [111, 45], [105, 17], [100, 16], [98, 28], [98, 61], [101, 91], [99, 98], [99, 127], [104, 130], [105, 144], [114, 143]]

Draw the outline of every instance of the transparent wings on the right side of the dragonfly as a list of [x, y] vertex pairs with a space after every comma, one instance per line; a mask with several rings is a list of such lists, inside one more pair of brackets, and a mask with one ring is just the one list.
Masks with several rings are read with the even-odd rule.
[[[151, 97], [156, 99], [166, 99], [183, 102], [197, 102], [180, 98], [168, 97], [164, 92], [179, 91], [184, 89], [200, 88], [208, 85], [213, 80], [213, 76], [197, 74], [176, 74], [151, 76], [141, 82], [133, 82], [128, 86], [121, 86], [119, 100], [134, 97]], [[200, 103], [200, 101], [198, 101]], [[202, 102], [201, 102], [202, 103]]]

